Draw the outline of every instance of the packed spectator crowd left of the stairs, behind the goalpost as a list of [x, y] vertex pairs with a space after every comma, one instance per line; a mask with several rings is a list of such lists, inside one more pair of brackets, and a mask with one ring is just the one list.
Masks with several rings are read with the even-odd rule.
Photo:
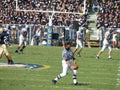
[[[83, 0], [2, 0], [0, 3], [0, 20], [3, 24], [41, 24], [49, 22], [49, 14], [43, 12], [25, 12], [17, 10], [43, 10], [60, 12], [83, 13]], [[89, 0], [87, 0], [87, 3]], [[87, 4], [89, 7], [89, 4]], [[56, 13], [53, 16], [53, 25], [69, 26], [81, 18], [80, 15]]]

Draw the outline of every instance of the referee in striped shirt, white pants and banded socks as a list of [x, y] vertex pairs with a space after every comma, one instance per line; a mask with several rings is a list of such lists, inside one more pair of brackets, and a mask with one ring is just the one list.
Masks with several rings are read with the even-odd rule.
[[65, 49], [62, 52], [62, 67], [63, 71], [61, 74], [57, 75], [53, 80], [52, 83], [56, 84], [56, 82], [61, 79], [62, 77], [66, 76], [68, 73], [68, 70], [70, 69], [72, 71], [73, 75], [73, 84], [77, 85], [77, 69], [74, 69], [74, 65], [76, 64], [76, 59], [74, 58], [73, 52], [70, 48], [70, 43], [65, 43]]

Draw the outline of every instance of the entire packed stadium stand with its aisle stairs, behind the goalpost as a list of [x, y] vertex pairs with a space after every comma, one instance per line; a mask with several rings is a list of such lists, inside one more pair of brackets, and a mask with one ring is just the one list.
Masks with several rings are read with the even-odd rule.
[[[16, 11], [16, 0], [1, 0], [0, 1], [0, 23], [9, 25], [42, 25], [46, 31], [49, 22], [49, 13], [43, 12], [25, 12]], [[79, 12], [83, 13], [84, 0], [18, 0], [17, 9], [23, 10], [55, 10], [60, 12]], [[97, 23], [100, 22], [100, 27], [105, 28], [120, 28], [120, 2], [119, 0], [96, 0], [99, 3], [99, 9], [92, 8], [92, 3], [95, 0], [86, 0], [86, 15], [56, 13], [53, 16], [54, 26], [79, 27], [82, 23], [87, 22], [83, 27], [92, 27], [95, 29]], [[102, 2], [100, 2], [102, 1]], [[95, 3], [94, 3], [95, 4]], [[78, 8], [79, 7], [79, 8]], [[94, 12], [92, 11], [94, 9]], [[91, 14], [92, 12], [92, 14]], [[90, 16], [90, 17], [89, 17]], [[88, 22], [89, 20], [89, 22]], [[88, 24], [91, 23], [92, 24]], [[36, 26], [35, 26], [36, 27]], [[34, 29], [34, 27], [31, 27]], [[13, 28], [16, 29], [16, 28]], [[12, 30], [12, 29], [11, 29]], [[59, 29], [58, 29], [59, 30]], [[91, 29], [90, 29], [91, 30]], [[46, 33], [46, 32], [45, 32]], [[96, 33], [94, 33], [96, 34]], [[96, 37], [95, 37], [96, 38]], [[94, 35], [93, 35], [94, 39]], [[14, 41], [14, 40], [13, 40]]]

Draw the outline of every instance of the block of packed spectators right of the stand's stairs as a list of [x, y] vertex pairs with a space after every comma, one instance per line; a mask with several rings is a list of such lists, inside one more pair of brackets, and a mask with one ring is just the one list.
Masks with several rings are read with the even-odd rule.
[[[98, 2], [98, 0], [95, 0]], [[97, 28], [120, 28], [120, 1], [102, 0], [99, 2]]]

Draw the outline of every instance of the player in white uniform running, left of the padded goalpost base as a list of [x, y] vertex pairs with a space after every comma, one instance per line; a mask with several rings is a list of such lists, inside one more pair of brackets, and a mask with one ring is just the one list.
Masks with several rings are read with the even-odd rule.
[[18, 53], [19, 51], [23, 53], [23, 50], [27, 45], [26, 37], [27, 37], [27, 30], [26, 30], [26, 28], [22, 28], [21, 34], [20, 34], [20, 37], [19, 37], [19, 45], [18, 45], [18, 48], [15, 51], [16, 53]]

